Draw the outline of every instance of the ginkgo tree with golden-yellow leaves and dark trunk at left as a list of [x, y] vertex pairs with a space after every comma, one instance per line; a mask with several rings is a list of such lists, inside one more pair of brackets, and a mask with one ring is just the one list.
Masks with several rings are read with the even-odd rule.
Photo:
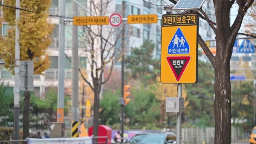
[[[8, 25], [7, 35], [0, 39], [0, 53], [8, 51], [14, 57], [15, 54], [15, 0], [5, 0], [5, 5], [11, 7], [3, 7], [3, 16]], [[48, 45], [51, 44], [51, 33], [53, 32], [53, 24], [48, 21], [48, 9], [51, 6], [51, 0], [21, 0], [20, 20], [18, 27], [20, 29], [20, 60], [34, 61], [34, 74], [43, 75], [43, 72], [50, 67]], [[13, 71], [10, 67], [11, 60], [5, 58], [5, 67]], [[24, 92], [24, 110], [23, 110], [23, 138], [29, 136], [29, 99], [30, 93]]]

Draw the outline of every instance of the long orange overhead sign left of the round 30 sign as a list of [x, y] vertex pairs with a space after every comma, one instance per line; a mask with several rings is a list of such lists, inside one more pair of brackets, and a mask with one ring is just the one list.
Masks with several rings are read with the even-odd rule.
[[108, 25], [108, 16], [78, 16], [73, 17], [73, 25], [84, 26], [84, 25]]

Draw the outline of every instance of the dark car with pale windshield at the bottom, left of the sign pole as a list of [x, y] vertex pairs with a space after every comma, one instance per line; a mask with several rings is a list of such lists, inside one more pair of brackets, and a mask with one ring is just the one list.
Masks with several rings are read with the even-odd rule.
[[137, 133], [128, 144], [176, 144], [176, 135], [172, 132]]

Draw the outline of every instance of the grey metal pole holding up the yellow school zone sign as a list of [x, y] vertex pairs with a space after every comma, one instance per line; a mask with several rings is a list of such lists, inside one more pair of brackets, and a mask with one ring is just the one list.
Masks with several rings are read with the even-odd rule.
[[[178, 98], [182, 97], [182, 84], [178, 83]], [[176, 144], [181, 144], [181, 112], [177, 113]]]

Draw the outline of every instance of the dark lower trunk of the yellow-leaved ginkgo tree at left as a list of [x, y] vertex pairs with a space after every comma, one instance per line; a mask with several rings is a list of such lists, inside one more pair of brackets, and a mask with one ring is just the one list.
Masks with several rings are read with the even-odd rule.
[[30, 92], [24, 92], [23, 101], [23, 139], [29, 137], [29, 103], [30, 103]]

